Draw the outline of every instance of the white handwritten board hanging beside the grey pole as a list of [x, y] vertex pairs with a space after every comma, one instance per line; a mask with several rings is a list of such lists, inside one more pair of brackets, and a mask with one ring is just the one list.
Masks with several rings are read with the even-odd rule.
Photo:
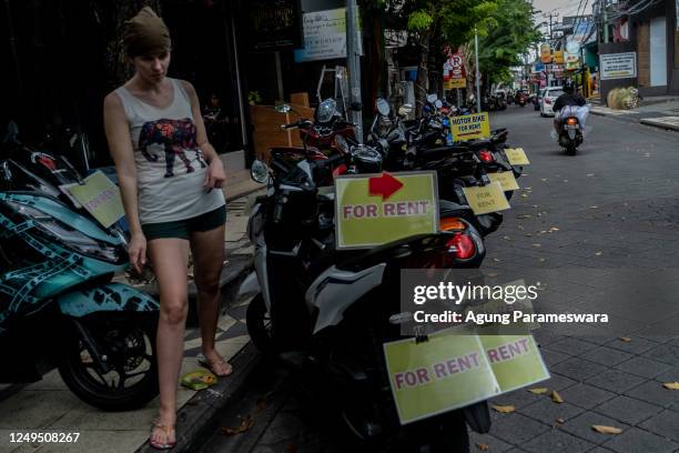
[[[295, 62], [346, 58], [346, 9], [304, 13], [304, 48], [295, 50]], [[357, 31], [361, 46], [361, 31]]]

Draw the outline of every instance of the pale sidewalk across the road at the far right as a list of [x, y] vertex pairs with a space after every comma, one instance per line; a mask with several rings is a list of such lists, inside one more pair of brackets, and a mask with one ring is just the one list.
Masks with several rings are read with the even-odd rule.
[[679, 98], [643, 98], [641, 105], [635, 110], [615, 110], [592, 104], [591, 113], [601, 117], [614, 117], [624, 121], [638, 122], [666, 130], [679, 131]]

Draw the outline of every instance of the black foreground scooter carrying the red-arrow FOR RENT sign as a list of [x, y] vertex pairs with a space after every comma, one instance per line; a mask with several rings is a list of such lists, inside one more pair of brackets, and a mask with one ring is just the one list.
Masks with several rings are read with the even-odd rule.
[[[478, 266], [483, 242], [464, 220], [449, 219], [437, 234], [337, 251], [334, 197], [321, 193], [314, 172], [342, 159], [272, 150], [271, 168], [253, 163], [253, 179], [267, 182], [267, 193], [249, 221], [255, 273], [240, 291], [256, 294], [246, 314], [251, 339], [263, 353], [302, 371], [301, 379], [330, 397], [363, 442], [398, 440], [402, 450], [468, 451], [466, 424], [489, 429], [486, 403], [401, 426], [383, 344], [401, 339], [391, 322], [401, 312], [401, 270]], [[438, 434], [422, 435], [422, 430]]]

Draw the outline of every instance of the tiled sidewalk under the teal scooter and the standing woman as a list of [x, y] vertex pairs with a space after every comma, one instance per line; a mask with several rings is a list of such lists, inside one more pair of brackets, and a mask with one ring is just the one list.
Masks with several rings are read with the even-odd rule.
[[[210, 412], [217, 410], [242, 387], [256, 354], [247, 349], [250, 338], [245, 326], [247, 301], [235, 301], [240, 279], [252, 268], [252, 246], [245, 236], [249, 194], [261, 184], [245, 179], [249, 171], [233, 172], [227, 179], [229, 215], [224, 248], [226, 262], [223, 271], [222, 292], [224, 306], [217, 328], [216, 348], [234, 365], [234, 373], [215, 386], [194, 392], [178, 385], [178, 440], [191, 442], [191, 436], [210, 422]], [[234, 197], [239, 197], [234, 199]], [[153, 285], [149, 285], [153, 286]], [[151, 291], [153, 292], [153, 291]], [[190, 324], [191, 325], [191, 319]], [[186, 329], [184, 362], [181, 373], [199, 370], [200, 331]], [[11, 365], [11, 364], [3, 364]], [[80, 401], [71, 393], [54, 370], [42, 381], [28, 385], [0, 385], [0, 452], [134, 452], [144, 446], [153, 419], [158, 414], [158, 399], [145, 407], [120, 413], [107, 413]], [[77, 443], [10, 443], [10, 433], [71, 432], [80, 433]], [[175, 449], [178, 451], [180, 449]]]

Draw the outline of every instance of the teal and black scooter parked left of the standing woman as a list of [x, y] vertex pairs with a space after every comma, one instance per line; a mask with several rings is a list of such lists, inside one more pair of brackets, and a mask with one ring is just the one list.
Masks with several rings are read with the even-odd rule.
[[[0, 160], [0, 179], [8, 168]], [[57, 368], [102, 410], [153, 400], [159, 303], [113, 281], [128, 265], [113, 229], [45, 192], [0, 191], [0, 382], [36, 382]]]

